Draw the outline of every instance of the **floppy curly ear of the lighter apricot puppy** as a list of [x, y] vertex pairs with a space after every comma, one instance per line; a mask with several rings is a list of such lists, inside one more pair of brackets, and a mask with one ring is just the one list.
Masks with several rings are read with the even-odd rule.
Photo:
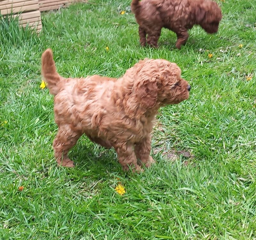
[[157, 101], [157, 82], [156, 79], [141, 80], [136, 86], [138, 101], [145, 108], [150, 109], [156, 105]]

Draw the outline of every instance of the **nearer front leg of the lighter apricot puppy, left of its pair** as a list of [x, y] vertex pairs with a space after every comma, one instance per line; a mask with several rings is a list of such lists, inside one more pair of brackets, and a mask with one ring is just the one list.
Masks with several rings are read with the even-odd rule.
[[137, 163], [137, 158], [133, 150], [133, 144], [131, 143], [119, 143], [115, 146], [118, 161], [122, 165], [124, 171], [128, 171], [132, 168], [132, 172], [142, 172], [143, 169]]

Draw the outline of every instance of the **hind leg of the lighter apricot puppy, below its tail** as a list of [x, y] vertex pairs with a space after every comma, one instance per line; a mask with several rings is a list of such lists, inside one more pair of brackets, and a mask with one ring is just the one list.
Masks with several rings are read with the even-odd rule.
[[76, 144], [81, 132], [72, 130], [68, 125], [59, 126], [53, 141], [54, 155], [58, 165], [74, 167], [74, 162], [68, 158], [68, 151]]

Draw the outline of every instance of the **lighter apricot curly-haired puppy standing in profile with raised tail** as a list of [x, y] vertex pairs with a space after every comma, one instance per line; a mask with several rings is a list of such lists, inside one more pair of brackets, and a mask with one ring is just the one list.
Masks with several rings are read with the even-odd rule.
[[119, 79], [64, 78], [56, 71], [52, 50], [45, 50], [42, 74], [55, 96], [59, 129], [53, 148], [58, 164], [74, 166], [67, 154], [85, 133], [93, 142], [114, 147], [124, 170], [140, 172], [140, 165], [150, 166], [150, 133], [157, 110], [189, 97], [190, 86], [180, 73], [175, 63], [144, 59]]

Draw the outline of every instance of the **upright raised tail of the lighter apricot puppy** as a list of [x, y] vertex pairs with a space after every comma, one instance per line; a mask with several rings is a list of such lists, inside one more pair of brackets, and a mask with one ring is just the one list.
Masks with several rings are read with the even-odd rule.
[[56, 71], [52, 50], [50, 48], [46, 49], [42, 54], [42, 75], [44, 81], [48, 84], [49, 92], [55, 96], [59, 92], [58, 84], [61, 77]]

